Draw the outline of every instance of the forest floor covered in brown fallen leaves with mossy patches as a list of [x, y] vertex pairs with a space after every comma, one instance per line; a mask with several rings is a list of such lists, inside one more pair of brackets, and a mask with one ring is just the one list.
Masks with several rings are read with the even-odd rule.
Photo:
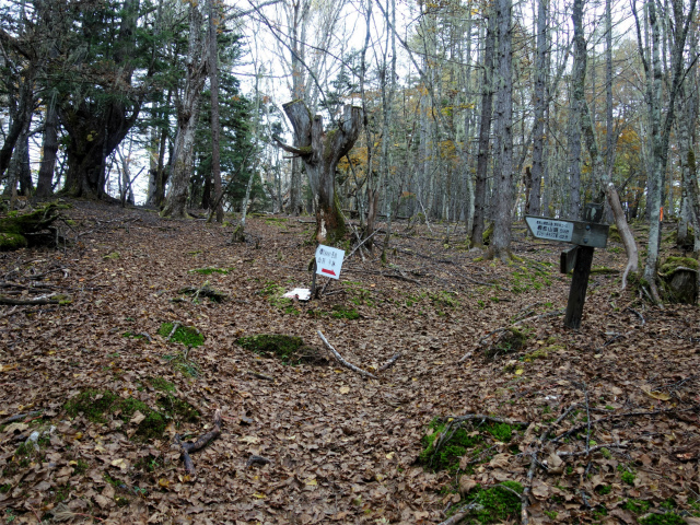
[[[621, 292], [621, 244], [571, 330], [564, 246], [522, 224], [511, 266], [464, 226], [395, 224], [386, 265], [355, 253], [300, 303], [311, 218], [249, 218], [232, 245], [144, 209], [63, 215], [59, 249], [0, 254], [0, 294], [48, 303], [0, 305], [2, 524], [520, 523], [521, 500], [529, 523], [700, 523], [700, 312]], [[306, 346], [240, 345], [260, 334]], [[188, 474], [177, 438], [217, 410]]]

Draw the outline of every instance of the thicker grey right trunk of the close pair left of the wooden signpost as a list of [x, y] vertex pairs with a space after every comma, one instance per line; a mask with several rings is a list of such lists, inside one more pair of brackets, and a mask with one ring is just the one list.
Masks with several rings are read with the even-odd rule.
[[493, 238], [489, 256], [503, 261], [511, 259], [511, 222], [513, 207], [513, 47], [512, 0], [498, 0], [498, 91], [495, 95], [494, 154], [498, 170], [494, 172]]

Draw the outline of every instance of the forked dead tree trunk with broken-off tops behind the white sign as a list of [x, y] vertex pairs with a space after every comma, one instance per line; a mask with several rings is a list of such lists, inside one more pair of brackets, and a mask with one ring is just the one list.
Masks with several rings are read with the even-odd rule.
[[292, 101], [283, 106], [292, 122], [299, 147], [280, 147], [299, 155], [304, 162], [308, 183], [314, 195], [316, 211], [316, 240], [335, 244], [346, 233], [346, 224], [336, 195], [336, 167], [360, 136], [362, 109], [347, 105], [337, 129], [324, 130], [320, 115], [312, 118], [303, 101]]

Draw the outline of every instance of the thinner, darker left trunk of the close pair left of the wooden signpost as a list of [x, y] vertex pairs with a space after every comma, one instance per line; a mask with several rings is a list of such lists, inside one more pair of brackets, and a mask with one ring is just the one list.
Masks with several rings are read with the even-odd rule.
[[471, 244], [483, 245], [483, 230], [486, 220], [486, 187], [489, 170], [489, 143], [491, 119], [493, 116], [493, 52], [495, 46], [495, 8], [489, 12], [489, 21], [483, 48], [483, 65], [481, 80], [481, 115], [479, 116], [479, 152], [477, 154], [477, 177], [474, 188], [474, 228]]

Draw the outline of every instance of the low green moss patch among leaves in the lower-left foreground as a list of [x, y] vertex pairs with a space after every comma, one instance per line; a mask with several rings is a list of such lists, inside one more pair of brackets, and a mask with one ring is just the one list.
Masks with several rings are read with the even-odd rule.
[[124, 398], [112, 390], [86, 389], [69, 399], [63, 408], [71, 417], [82, 412], [90, 421], [103, 424], [110, 416], [116, 416], [126, 423], [137, 411], [141, 412], [144, 419], [138, 424], [135, 436], [144, 441], [162, 438], [168, 419], [192, 422], [199, 418], [199, 412], [194, 407], [170, 394], [159, 399], [159, 406], [160, 411], [153, 410], [140, 399]]

